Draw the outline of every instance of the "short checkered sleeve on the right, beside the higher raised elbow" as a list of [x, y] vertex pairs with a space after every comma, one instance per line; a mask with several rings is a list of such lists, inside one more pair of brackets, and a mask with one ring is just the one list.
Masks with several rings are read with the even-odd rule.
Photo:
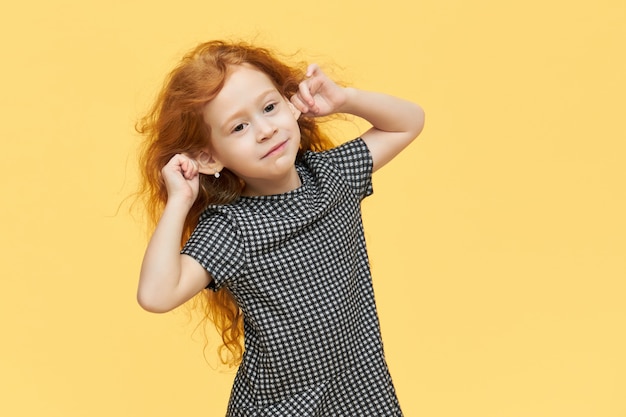
[[363, 199], [374, 192], [372, 155], [367, 144], [357, 138], [322, 153], [343, 174], [344, 179]]

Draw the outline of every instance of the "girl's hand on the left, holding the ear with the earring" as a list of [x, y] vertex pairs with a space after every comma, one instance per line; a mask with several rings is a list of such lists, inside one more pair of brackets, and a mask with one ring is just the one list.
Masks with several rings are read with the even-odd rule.
[[168, 202], [180, 201], [191, 207], [200, 189], [198, 163], [186, 155], [176, 154], [161, 169], [161, 175]]

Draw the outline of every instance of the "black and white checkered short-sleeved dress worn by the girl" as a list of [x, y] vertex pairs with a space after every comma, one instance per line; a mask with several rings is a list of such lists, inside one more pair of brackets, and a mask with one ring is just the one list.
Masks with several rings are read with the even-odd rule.
[[361, 222], [367, 146], [307, 152], [296, 168], [296, 190], [209, 207], [183, 249], [244, 313], [227, 415], [401, 416]]

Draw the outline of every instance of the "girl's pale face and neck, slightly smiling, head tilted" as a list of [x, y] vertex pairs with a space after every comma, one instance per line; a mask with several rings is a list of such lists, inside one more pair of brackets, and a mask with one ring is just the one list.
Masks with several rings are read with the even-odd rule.
[[246, 186], [244, 195], [272, 195], [300, 186], [295, 159], [300, 113], [270, 78], [250, 65], [237, 65], [222, 90], [206, 104], [211, 156]]

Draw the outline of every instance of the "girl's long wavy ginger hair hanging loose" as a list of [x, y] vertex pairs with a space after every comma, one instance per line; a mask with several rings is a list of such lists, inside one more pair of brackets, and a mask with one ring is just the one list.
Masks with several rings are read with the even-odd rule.
[[[150, 226], [154, 228], [167, 202], [167, 191], [161, 169], [177, 153], [196, 154], [211, 145], [210, 129], [202, 110], [222, 89], [229, 68], [249, 64], [264, 72], [286, 98], [298, 90], [304, 79], [304, 66], [288, 65], [269, 49], [246, 42], [210, 41], [187, 53], [166, 77], [156, 101], [137, 123], [143, 135], [140, 149], [141, 183], [139, 195], [145, 205]], [[333, 146], [314, 118], [300, 117], [300, 154], [321, 151]], [[200, 192], [185, 219], [181, 247], [198, 224], [205, 208], [212, 204], [229, 204], [239, 198], [244, 184], [228, 169], [219, 179], [200, 175]], [[213, 322], [221, 334], [219, 357], [235, 366], [243, 356], [243, 317], [227, 288], [203, 290], [195, 298], [204, 320]]]

